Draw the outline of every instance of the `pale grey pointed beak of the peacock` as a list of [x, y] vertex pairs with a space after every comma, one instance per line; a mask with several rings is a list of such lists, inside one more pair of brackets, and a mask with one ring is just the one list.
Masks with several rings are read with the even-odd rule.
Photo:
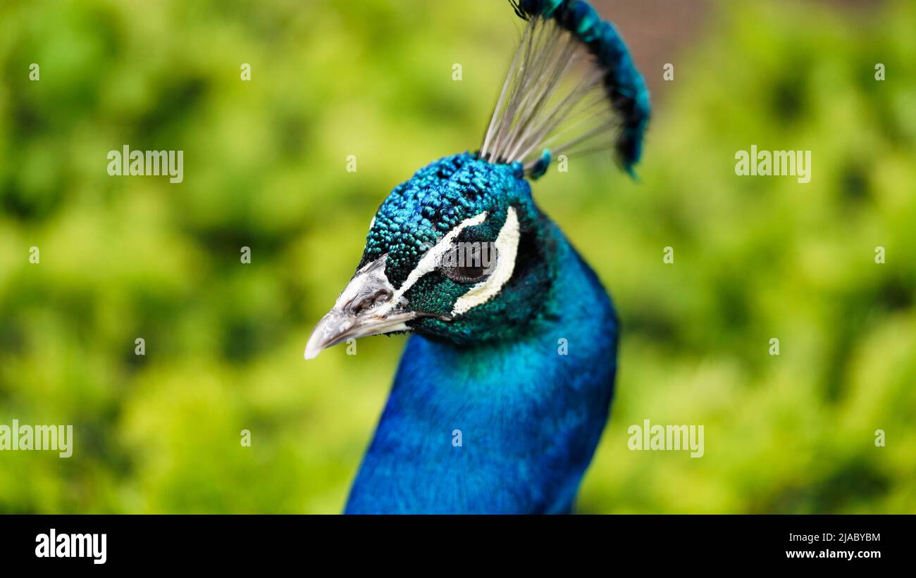
[[333, 309], [312, 330], [305, 359], [351, 338], [409, 330], [406, 323], [417, 315], [399, 306], [401, 299], [385, 276], [386, 259], [383, 255], [356, 272]]

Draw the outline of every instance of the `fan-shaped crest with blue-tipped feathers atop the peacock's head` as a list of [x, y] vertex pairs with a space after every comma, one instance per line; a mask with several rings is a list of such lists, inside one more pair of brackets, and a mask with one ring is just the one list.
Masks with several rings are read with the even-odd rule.
[[509, 0], [526, 20], [480, 156], [538, 178], [557, 155], [614, 152], [630, 175], [649, 91], [613, 25], [581, 0]]

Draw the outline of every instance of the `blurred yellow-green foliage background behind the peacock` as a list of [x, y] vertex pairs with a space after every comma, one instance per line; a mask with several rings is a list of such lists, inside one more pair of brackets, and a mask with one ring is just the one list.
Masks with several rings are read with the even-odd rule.
[[[598, 155], [534, 187], [624, 331], [578, 510], [916, 512], [916, 3], [595, 4], [656, 106], [640, 182]], [[518, 27], [497, 0], [0, 5], [0, 423], [75, 436], [0, 453], [0, 511], [340, 511], [405, 338], [306, 338], [387, 192], [479, 145]], [[183, 150], [184, 182], [109, 177], [124, 144]], [[736, 177], [750, 144], [812, 150], [811, 183]], [[629, 451], [644, 419], [704, 424], [705, 455]]]

